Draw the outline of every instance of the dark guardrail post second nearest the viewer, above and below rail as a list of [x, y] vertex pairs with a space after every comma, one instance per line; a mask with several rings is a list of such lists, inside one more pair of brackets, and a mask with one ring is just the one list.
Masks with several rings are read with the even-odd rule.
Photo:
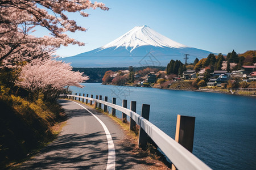
[[[149, 104], [142, 104], [142, 111], [141, 116], [146, 118], [146, 120], [149, 119], [149, 113], [150, 113], [150, 105]], [[147, 133], [144, 131], [141, 127], [139, 127], [139, 141], [138, 141], [138, 147], [141, 147], [143, 150], [146, 150], [147, 146]]]

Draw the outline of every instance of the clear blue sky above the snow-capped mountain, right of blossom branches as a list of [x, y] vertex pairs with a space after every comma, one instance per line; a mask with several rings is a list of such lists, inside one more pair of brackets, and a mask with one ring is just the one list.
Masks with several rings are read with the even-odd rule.
[[[93, 2], [93, 1], [92, 1]], [[87, 10], [82, 18], [69, 14], [86, 32], [69, 33], [85, 46], [61, 46], [57, 54], [74, 56], [107, 44], [135, 26], [147, 25], [160, 34], [194, 48], [227, 54], [256, 50], [256, 1], [118, 1], [103, 2], [109, 11]]]

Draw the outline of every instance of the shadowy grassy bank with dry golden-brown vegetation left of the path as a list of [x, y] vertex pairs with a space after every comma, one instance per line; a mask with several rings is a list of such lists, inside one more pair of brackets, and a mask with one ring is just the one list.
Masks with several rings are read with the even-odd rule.
[[0, 169], [30, 158], [51, 142], [64, 125], [64, 114], [60, 114], [57, 103], [2, 95], [0, 109]]

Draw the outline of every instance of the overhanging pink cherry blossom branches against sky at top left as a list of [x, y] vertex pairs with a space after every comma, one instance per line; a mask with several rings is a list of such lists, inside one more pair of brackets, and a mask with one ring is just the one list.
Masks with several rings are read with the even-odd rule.
[[[68, 19], [68, 12], [80, 12], [89, 16], [84, 10], [101, 8], [109, 10], [103, 3], [87, 0], [1, 0], [0, 1], [0, 61], [26, 49], [26, 45], [40, 44], [59, 47], [68, 44], [84, 45], [68, 37], [65, 32], [86, 31], [75, 20]], [[30, 35], [36, 26], [44, 27], [50, 36], [36, 37]], [[17, 57], [17, 55], [16, 55]]]

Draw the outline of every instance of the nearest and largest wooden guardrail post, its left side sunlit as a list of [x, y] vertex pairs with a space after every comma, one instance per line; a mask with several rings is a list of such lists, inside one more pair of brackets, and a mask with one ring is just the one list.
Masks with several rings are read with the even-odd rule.
[[[193, 151], [196, 117], [177, 115], [175, 141], [180, 143], [189, 152]], [[172, 164], [172, 170], [176, 169]]]

